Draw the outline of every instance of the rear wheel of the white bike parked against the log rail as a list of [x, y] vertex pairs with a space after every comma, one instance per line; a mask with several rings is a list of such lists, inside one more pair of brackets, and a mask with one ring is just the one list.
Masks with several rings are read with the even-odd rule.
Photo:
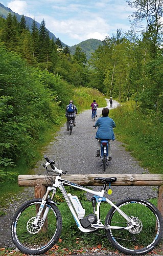
[[129, 255], [143, 255], [154, 249], [162, 238], [162, 217], [158, 209], [142, 199], [125, 199], [116, 204], [127, 216], [135, 221], [129, 230], [118, 227], [130, 227], [131, 223], [112, 207], [106, 216], [106, 225], [117, 229], [106, 230], [110, 243], [119, 251]]

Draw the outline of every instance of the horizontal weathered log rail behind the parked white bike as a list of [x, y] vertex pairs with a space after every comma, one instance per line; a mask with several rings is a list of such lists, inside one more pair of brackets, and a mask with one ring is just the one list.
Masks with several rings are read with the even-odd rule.
[[[74, 182], [82, 186], [101, 186], [101, 181], [94, 181], [96, 177], [117, 177], [117, 181], [111, 183], [113, 186], [161, 186], [163, 184], [162, 174], [88, 174], [88, 175], [62, 175], [62, 179]], [[55, 175], [54, 175], [55, 179]], [[36, 186], [42, 184], [48, 186], [45, 175], [19, 175], [19, 186]], [[49, 181], [52, 185], [52, 182]]]

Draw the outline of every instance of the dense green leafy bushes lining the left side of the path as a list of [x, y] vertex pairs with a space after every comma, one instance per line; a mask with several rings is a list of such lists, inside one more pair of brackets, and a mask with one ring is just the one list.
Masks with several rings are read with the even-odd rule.
[[0, 48], [0, 54], [1, 163], [24, 155], [30, 163], [44, 133], [60, 124], [59, 113], [72, 96], [64, 93], [70, 86], [59, 76], [27, 66], [14, 53]]

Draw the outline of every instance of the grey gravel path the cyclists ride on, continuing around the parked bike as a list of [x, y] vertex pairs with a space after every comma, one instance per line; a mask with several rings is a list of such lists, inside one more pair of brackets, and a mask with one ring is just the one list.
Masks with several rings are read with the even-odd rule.
[[[108, 102], [108, 100], [107, 100]], [[117, 106], [117, 101], [113, 101], [112, 108]], [[102, 108], [97, 111], [98, 116], [101, 114]], [[114, 120], [116, 123], [116, 120]], [[55, 140], [45, 148], [42, 155], [47, 155], [50, 159], [55, 160], [57, 168], [67, 170], [68, 174], [103, 174], [101, 159], [96, 157], [97, 140], [95, 139], [96, 129], [92, 127], [94, 122], [91, 120], [91, 110], [84, 111], [76, 116], [76, 127], [74, 127], [72, 135], [66, 131], [66, 124], [61, 127], [57, 133]], [[116, 128], [115, 128], [116, 129]], [[112, 161], [106, 168], [107, 174], [142, 174], [148, 173], [148, 170], [140, 167], [138, 162], [126, 152], [122, 143], [117, 141], [111, 142]], [[37, 174], [44, 172], [40, 167], [35, 168]], [[95, 187], [99, 189], [100, 187]], [[112, 186], [113, 193], [111, 200], [118, 201], [130, 196], [142, 197], [144, 199], [154, 198], [157, 191], [154, 187], [136, 187], [136, 186]], [[0, 247], [14, 247], [10, 236], [10, 223], [16, 209], [25, 201], [33, 198], [33, 187], [26, 187], [25, 190], [11, 198], [9, 205], [4, 211], [6, 215], [0, 217]], [[106, 196], [106, 195], [105, 195]], [[88, 195], [89, 197], [89, 195]]]

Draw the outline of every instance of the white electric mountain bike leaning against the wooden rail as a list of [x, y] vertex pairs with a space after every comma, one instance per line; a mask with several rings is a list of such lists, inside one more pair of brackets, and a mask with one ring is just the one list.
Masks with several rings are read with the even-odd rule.
[[[82, 232], [93, 232], [105, 229], [109, 242], [119, 251], [129, 255], [143, 255], [156, 247], [162, 238], [163, 221], [158, 209], [148, 201], [128, 198], [114, 204], [104, 197], [106, 186], [111, 194], [111, 183], [116, 182], [116, 177], [96, 177], [94, 180], [103, 182], [100, 191], [64, 180], [61, 176], [67, 172], [57, 169], [54, 161], [44, 157], [46, 163], [46, 180], [51, 184], [46, 189], [41, 199], [33, 199], [22, 205], [15, 213], [11, 236], [15, 246], [26, 254], [42, 254], [57, 243], [62, 230], [62, 216], [54, 201], [56, 190], [59, 188], [78, 228]], [[49, 167], [48, 167], [49, 166]], [[54, 176], [54, 173], [57, 174]], [[91, 213], [85, 216], [77, 196], [67, 194], [64, 184], [84, 190], [92, 194]], [[51, 197], [50, 197], [51, 195]], [[105, 224], [100, 219], [100, 205], [108, 203], [111, 209], [106, 215]], [[106, 207], [107, 205], [105, 205]], [[101, 216], [102, 217], [102, 216]], [[66, 218], [66, 216], [64, 216]]]

